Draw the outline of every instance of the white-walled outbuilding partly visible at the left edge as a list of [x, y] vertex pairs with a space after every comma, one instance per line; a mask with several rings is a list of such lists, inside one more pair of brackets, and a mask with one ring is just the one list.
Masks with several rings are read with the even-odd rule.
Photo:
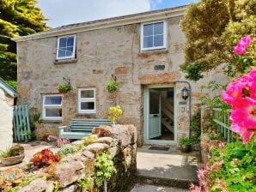
[[13, 142], [13, 117], [15, 90], [0, 77], [0, 150], [11, 147]]

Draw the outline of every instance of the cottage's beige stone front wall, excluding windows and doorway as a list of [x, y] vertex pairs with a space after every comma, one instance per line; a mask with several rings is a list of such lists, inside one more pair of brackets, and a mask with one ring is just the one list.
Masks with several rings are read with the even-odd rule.
[[[183, 47], [186, 37], [179, 23], [185, 7], [153, 11], [141, 15], [130, 15], [106, 21], [94, 21], [59, 27], [46, 33], [16, 39], [18, 46], [19, 104], [29, 105], [31, 113], [42, 111], [45, 94], [58, 93], [56, 87], [63, 83], [63, 77], [70, 79], [73, 90], [63, 94], [62, 122], [43, 122], [36, 129], [36, 135], [58, 135], [58, 126], [69, 123], [72, 117], [107, 117], [108, 108], [120, 105], [123, 116], [119, 123], [131, 123], [137, 127], [137, 144], [144, 141], [144, 89], [149, 85], [170, 85], [175, 87], [174, 141], [189, 134], [189, 112], [196, 109], [198, 98], [212, 93], [202, 92], [200, 86], [210, 81], [222, 81], [221, 71], [205, 74], [204, 81], [190, 82], [191, 102], [179, 105], [181, 89], [187, 87], [185, 74], [180, 71], [184, 62]], [[167, 49], [155, 51], [140, 50], [141, 23], [166, 21], [168, 30]], [[58, 37], [76, 35], [76, 59], [56, 61]], [[113, 76], [119, 84], [119, 91], [110, 94], [106, 90]], [[218, 78], [216, 78], [218, 77]], [[80, 115], [77, 112], [79, 88], [95, 87], [96, 113]], [[191, 105], [191, 107], [189, 106]]]

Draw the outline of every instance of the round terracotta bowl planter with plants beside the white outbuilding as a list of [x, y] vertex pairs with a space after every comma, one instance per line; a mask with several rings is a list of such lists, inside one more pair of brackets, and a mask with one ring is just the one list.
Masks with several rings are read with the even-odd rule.
[[24, 147], [15, 145], [7, 147], [5, 151], [1, 150], [0, 160], [3, 165], [15, 165], [25, 158]]

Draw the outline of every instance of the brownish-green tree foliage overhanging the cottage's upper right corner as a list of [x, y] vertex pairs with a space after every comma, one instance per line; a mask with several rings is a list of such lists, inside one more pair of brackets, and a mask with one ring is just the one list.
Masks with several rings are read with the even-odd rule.
[[255, 6], [252, 0], [202, 0], [188, 6], [180, 22], [186, 34], [185, 63], [180, 69], [187, 73], [186, 78], [197, 81], [202, 72], [221, 63], [232, 63], [228, 74], [238, 75], [253, 64], [248, 58], [233, 61], [238, 40], [248, 34], [255, 36]]

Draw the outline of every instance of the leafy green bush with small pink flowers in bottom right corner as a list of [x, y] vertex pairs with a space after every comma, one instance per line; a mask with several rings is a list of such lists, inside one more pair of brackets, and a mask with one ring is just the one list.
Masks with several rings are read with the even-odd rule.
[[218, 147], [207, 155], [207, 162], [198, 170], [198, 185], [191, 184], [190, 192], [248, 192], [256, 189], [256, 147], [241, 141]]

